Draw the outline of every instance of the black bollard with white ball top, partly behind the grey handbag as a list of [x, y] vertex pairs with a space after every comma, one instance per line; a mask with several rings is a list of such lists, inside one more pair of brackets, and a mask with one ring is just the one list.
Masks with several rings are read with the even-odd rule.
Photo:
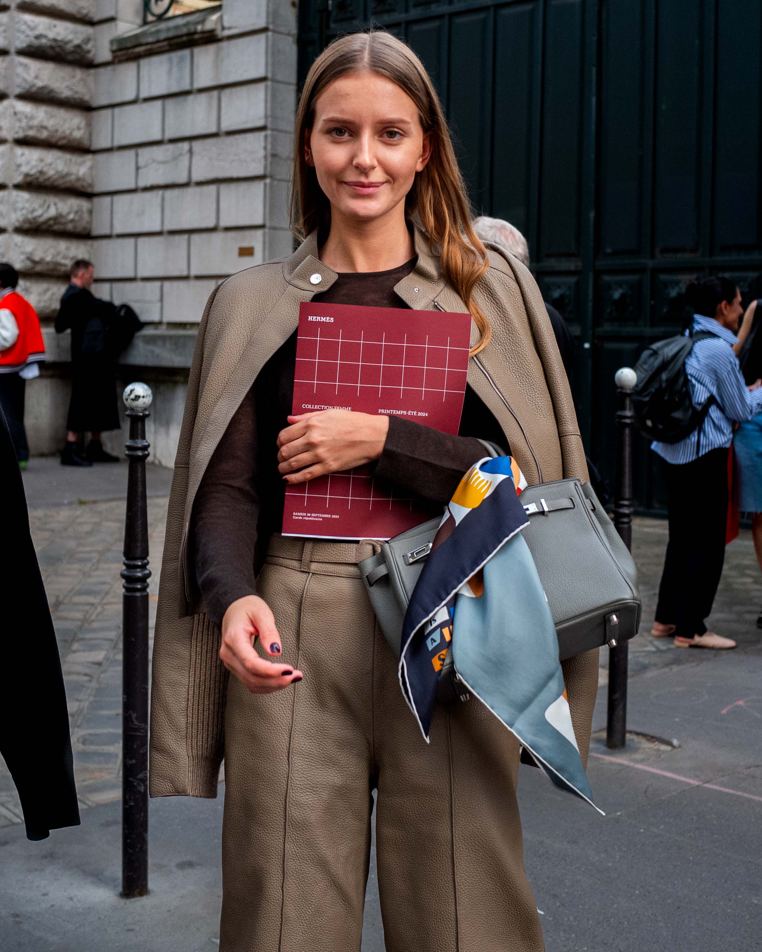
[[[614, 382], [619, 394], [616, 424], [619, 429], [616, 453], [613, 525], [622, 542], [632, 551], [632, 387], [637, 375], [631, 367], [616, 371]], [[609, 645], [609, 703], [606, 717], [606, 746], [621, 749], [627, 741], [627, 662], [628, 643]]]

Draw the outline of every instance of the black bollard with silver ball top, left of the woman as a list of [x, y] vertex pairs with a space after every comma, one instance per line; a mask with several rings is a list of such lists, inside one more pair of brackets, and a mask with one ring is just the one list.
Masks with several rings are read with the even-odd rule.
[[146, 506], [146, 418], [150, 387], [130, 384], [125, 444], [130, 471], [125, 516], [122, 595], [122, 893], [149, 891], [149, 521]]

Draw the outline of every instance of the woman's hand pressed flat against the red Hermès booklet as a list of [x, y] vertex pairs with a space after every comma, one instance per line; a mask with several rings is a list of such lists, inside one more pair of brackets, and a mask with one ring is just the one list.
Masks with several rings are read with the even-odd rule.
[[291, 426], [278, 434], [278, 471], [291, 486], [377, 460], [389, 430], [389, 417], [351, 410], [288, 419]]

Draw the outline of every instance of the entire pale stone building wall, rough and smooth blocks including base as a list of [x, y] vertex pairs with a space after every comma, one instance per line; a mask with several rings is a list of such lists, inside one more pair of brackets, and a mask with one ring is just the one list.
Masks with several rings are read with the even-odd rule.
[[[143, 0], [0, 12], [0, 260], [22, 273], [48, 353], [27, 388], [32, 455], [64, 438], [69, 341], [51, 319], [81, 256], [94, 292], [147, 324], [118, 386], [152, 387], [151, 458], [172, 465], [211, 290], [292, 248], [295, 34], [296, 0], [223, 0], [145, 26]], [[121, 453], [124, 434], [105, 442]]]

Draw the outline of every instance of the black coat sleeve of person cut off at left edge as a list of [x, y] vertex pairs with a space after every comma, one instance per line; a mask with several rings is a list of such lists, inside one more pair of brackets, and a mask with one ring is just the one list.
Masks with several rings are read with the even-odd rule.
[[16, 784], [30, 840], [79, 825], [61, 660], [31, 542], [21, 471], [0, 410], [4, 489], [0, 579], [0, 753]]

